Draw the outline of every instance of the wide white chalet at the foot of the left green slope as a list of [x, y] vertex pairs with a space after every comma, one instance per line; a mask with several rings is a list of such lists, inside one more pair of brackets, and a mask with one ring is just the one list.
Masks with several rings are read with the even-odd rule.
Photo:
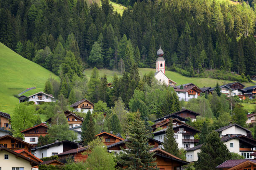
[[48, 95], [44, 92], [37, 92], [28, 97], [22, 95], [22, 96], [18, 97], [18, 99], [20, 100], [20, 102], [33, 101], [33, 102], [35, 102], [36, 105], [40, 104], [41, 102], [54, 102], [54, 101], [52, 101], [52, 99], [54, 99], [54, 97], [52, 95]]

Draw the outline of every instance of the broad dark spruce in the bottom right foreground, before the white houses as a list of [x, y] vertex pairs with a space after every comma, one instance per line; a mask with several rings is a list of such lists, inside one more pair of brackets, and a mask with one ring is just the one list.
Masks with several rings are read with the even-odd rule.
[[219, 134], [215, 131], [207, 135], [205, 144], [202, 145], [201, 152], [197, 155], [196, 170], [216, 170], [216, 166], [231, 159], [227, 146], [220, 141]]

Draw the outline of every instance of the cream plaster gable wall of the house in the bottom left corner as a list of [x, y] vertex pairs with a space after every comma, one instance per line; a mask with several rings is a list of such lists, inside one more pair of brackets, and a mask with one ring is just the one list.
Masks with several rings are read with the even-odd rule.
[[[5, 154], [8, 155], [8, 160], [5, 160]], [[22, 167], [24, 170], [31, 170], [32, 168], [29, 161], [16, 157], [12, 153], [6, 152], [5, 150], [0, 151], [0, 167], [1, 170], [11, 170], [12, 167]]]

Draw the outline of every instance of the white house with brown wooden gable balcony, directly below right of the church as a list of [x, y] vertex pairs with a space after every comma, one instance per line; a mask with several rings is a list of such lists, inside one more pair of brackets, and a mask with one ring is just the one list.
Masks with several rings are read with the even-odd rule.
[[200, 96], [202, 90], [193, 83], [174, 86], [174, 91], [177, 93], [179, 100], [189, 101], [190, 99]]

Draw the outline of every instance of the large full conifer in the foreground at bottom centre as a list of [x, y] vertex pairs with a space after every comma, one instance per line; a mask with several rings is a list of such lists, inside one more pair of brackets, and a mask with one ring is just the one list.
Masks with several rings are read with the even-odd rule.
[[134, 121], [128, 126], [129, 141], [125, 142], [127, 149], [117, 156], [117, 163], [123, 165], [126, 170], [158, 170], [156, 163], [153, 163], [154, 152], [149, 152], [152, 148], [148, 145], [150, 133], [145, 133], [145, 123], [140, 120], [137, 112]]

